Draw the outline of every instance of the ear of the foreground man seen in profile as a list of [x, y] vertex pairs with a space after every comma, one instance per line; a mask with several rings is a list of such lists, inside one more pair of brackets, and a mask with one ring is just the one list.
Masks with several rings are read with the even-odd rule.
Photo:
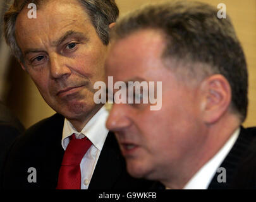
[[221, 74], [214, 74], [202, 81], [202, 113], [204, 122], [213, 124], [228, 111], [231, 103], [231, 86]]

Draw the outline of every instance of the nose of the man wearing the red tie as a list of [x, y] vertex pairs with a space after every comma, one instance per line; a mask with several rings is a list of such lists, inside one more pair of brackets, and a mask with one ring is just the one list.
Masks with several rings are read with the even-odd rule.
[[59, 79], [71, 74], [71, 69], [67, 66], [64, 56], [52, 54], [50, 57], [50, 73], [52, 78]]

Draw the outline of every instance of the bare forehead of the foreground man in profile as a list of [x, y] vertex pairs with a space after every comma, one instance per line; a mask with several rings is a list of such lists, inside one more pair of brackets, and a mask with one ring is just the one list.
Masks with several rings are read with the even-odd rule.
[[166, 47], [164, 34], [159, 30], [140, 30], [113, 42], [106, 62], [108, 74], [119, 80], [135, 74], [150, 74], [165, 68], [162, 52]]

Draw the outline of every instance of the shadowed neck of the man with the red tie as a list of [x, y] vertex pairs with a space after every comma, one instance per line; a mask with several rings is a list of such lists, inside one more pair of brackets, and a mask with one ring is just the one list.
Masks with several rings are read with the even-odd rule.
[[68, 119], [71, 122], [72, 126], [78, 131], [79, 133], [85, 127], [88, 121], [101, 109], [103, 105], [95, 105], [94, 109], [92, 109], [87, 115], [82, 117], [81, 119]]

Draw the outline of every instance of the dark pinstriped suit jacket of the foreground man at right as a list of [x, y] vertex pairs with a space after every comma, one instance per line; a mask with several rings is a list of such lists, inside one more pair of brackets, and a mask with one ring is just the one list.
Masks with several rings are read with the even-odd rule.
[[220, 167], [226, 169], [226, 182], [218, 182], [221, 172], [216, 172], [208, 189], [256, 189], [256, 128], [241, 127]]

